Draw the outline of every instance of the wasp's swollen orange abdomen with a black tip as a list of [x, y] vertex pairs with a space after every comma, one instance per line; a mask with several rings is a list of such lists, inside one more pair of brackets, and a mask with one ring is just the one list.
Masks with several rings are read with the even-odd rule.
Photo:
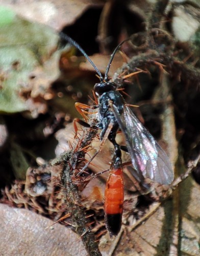
[[116, 235], [121, 228], [123, 212], [123, 176], [122, 168], [113, 168], [108, 177], [105, 190], [106, 227], [111, 235]]

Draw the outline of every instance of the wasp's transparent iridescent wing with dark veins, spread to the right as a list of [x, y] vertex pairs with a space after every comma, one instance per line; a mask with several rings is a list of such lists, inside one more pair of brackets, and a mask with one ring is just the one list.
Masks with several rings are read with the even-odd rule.
[[126, 137], [132, 165], [136, 171], [135, 178], [141, 181], [141, 177], [146, 177], [161, 184], [170, 184], [174, 178], [171, 163], [154, 137], [128, 106], [124, 105], [121, 115], [114, 104], [111, 109]]

